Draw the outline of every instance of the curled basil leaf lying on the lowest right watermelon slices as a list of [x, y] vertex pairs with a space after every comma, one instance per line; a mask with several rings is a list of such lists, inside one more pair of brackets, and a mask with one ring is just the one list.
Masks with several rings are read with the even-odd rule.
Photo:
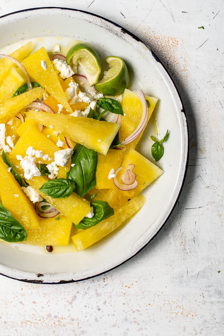
[[90, 206], [93, 207], [93, 218], [84, 217], [78, 224], [73, 223], [73, 225], [78, 229], [88, 229], [89, 227], [92, 227], [101, 222], [101, 220], [107, 219], [108, 217], [114, 215], [114, 209], [111, 208], [105, 201], [94, 201], [90, 203]]

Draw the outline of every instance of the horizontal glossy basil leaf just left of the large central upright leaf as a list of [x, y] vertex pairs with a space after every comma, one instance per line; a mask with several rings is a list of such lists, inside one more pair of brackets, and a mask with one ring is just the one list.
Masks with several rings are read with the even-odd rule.
[[39, 190], [52, 198], [67, 198], [75, 190], [75, 182], [57, 178], [45, 182]]

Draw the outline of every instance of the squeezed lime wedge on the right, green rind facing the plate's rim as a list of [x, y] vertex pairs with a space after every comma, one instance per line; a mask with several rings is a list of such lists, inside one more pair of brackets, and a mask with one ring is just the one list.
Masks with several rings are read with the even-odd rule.
[[108, 96], [115, 96], [124, 92], [130, 84], [127, 66], [120, 57], [108, 56], [105, 58], [110, 69], [104, 72], [104, 77], [95, 85], [97, 91]]

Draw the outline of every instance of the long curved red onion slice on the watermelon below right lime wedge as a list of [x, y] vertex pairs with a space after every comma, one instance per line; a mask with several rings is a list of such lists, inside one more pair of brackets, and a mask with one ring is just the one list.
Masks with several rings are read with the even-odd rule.
[[127, 143], [135, 140], [142, 133], [144, 127], [147, 124], [147, 120], [148, 120], [148, 117], [149, 117], [149, 109], [148, 109], [148, 105], [147, 105], [146, 98], [145, 98], [145, 95], [144, 95], [143, 91], [142, 90], [135, 90], [133, 92], [135, 92], [135, 94], [139, 97], [139, 99], [142, 102], [142, 106], [143, 106], [142, 118], [141, 118], [137, 128], [134, 130], [134, 132], [131, 133], [126, 139], [122, 140], [121, 144], [127, 144]]

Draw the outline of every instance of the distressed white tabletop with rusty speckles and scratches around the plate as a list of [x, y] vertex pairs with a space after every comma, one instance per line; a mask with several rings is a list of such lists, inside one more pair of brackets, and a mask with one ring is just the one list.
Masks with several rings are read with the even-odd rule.
[[[89, 10], [149, 43], [182, 95], [191, 151], [173, 214], [124, 265], [78, 284], [0, 277], [0, 335], [223, 335], [223, 0], [32, 5]], [[27, 0], [1, 0], [0, 15], [29, 7]]]

